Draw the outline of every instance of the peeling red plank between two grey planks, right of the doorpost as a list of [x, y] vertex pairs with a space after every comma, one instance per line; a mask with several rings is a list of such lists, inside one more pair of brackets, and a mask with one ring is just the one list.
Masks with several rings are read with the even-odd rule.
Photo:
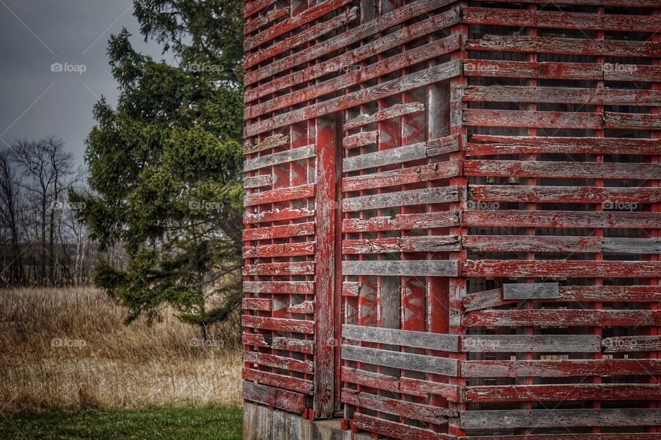
[[386, 188], [388, 186], [415, 184], [421, 181], [447, 179], [461, 175], [462, 162], [451, 160], [428, 165], [411, 166], [381, 173], [344, 177], [342, 190], [345, 192]]

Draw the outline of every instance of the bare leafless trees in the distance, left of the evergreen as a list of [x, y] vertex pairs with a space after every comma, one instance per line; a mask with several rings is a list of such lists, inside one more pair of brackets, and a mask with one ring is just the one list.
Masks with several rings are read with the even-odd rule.
[[85, 190], [83, 177], [56, 137], [0, 151], [0, 286], [91, 282], [98, 250], [68, 197]]

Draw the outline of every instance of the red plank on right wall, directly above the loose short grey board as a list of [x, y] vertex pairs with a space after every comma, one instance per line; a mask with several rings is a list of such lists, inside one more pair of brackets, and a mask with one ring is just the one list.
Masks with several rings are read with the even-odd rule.
[[655, 278], [661, 261], [467, 260], [463, 276]]

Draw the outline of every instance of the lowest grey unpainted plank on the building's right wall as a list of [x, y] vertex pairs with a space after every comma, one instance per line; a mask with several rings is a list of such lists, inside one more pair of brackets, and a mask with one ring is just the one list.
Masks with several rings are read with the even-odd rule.
[[460, 420], [464, 429], [653, 426], [661, 424], [661, 409], [473, 410]]

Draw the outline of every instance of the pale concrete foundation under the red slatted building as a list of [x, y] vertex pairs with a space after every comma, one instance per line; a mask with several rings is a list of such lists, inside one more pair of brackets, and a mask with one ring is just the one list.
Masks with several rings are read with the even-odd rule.
[[368, 440], [340, 428], [340, 419], [308, 420], [266, 406], [243, 404], [243, 440]]

